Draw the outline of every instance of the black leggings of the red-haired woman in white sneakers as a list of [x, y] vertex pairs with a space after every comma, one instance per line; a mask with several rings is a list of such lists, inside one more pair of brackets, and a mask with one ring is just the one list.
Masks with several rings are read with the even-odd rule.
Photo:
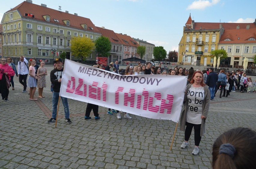
[[192, 124], [186, 121], [186, 129], [185, 129], [185, 141], [188, 141], [194, 127], [195, 131], [195, 146], [199, 146], [201, 141], [200, 131], [201, 131], [201, 124]]

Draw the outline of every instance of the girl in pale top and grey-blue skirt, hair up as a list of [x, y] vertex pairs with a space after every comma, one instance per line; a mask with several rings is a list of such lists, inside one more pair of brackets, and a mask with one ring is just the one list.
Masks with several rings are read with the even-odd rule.
[[36, 79], [39, 79], [40, 76], [35, 74], [35, 60], [29, 60], [29, 79], [28, 79], [28, 87], [29, 89], [29, 100], [37, 100], [34, 98], [35, 90], [36, 90]]

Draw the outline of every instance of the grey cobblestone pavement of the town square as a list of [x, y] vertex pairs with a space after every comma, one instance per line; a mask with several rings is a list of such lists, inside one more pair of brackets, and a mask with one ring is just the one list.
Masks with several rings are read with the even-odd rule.
[[131, 120], [122, 115], [119, 120], [106, 113], [107, 105], [99, 107], [99, 120], [85, 120], [87, 103], [69, 99], [72, 124], [67, 124], [60, 102], [55, 128], [55, 123], [47, 123], [52, 66], [47, 68], [45, 98], [29, 101], [15, 77], [9, 101], [1, 101], [0, 168], [211, 168], [212, 144], [221, 133], [235, 127], [256, 128], [256, 94], [240, 92], [211, 101], [197, 156], [192, 155], [193, 132], [188, 148], [181, 149], [184, 132], [178, 127], [170, 150], [176, 123], [136, 115], [130, 115]]

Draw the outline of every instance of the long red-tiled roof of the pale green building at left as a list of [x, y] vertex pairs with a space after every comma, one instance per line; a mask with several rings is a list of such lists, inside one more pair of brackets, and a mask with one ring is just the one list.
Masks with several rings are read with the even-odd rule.
[[[29, 18], [29, 19], [34, 19], [34, 20], [39, 20], [42, 22], [49, 23], [43, 17], [44, 15], [49, 15], [50, 23], [52, 23], [52, 24], [67, 26], [63, 22], [63, 20], [69, 20], [70, 21], [69, 27], [71, 27], [71, 28], [78, 28], [81, 30], [87, 30], [90, 32], [99, 33], [99, 30], [96, 28], [96, 26], [94, 26], [93, 22], [90, 19], [84, 18], [82, 16], [76, 16], [74, 14], [61, 12], [61, 11], [54, 10], [54, 9], [44, 7], [41, 5], [32, 4], [32, 3], [29, 3], [26, 1], [23, 1], [21, 4], [17, 5], [16, 7], [12, 8], [11, 10], [8, 10], [7, 12], [11, 12], [14, 10], [18, 10], [22, 18]], [[35, 18], [25, 16], [25, 13], [32, 13], [35, 16]], [[53, 19], [57, 19], [57, 20], [59, 20], [59, 22], [56, 22]], [[86, 24], [87, 29], [84, 29], [80, 24]], [[89, 27], [93, 28], [93, 30], [90, 29]]]

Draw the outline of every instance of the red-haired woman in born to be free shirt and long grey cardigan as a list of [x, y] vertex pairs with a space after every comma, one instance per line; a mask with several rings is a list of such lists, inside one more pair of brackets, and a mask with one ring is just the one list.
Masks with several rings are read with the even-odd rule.
[[[211, 94], [209, 87], [203, 83], [203, 73], [195, 71], [187, 85], [184, 97], [184, 107], [181, 114], [180, 130], [185, 131], [185, 139], [181, 148], [187, 147], [192, 129], [195, 132], [195, 147], [193, 155], [199, 153], [199, 144], [205, 133], [205, 121], [209, 111]], [[185, 126], [186, 129], [185, 129]]]

